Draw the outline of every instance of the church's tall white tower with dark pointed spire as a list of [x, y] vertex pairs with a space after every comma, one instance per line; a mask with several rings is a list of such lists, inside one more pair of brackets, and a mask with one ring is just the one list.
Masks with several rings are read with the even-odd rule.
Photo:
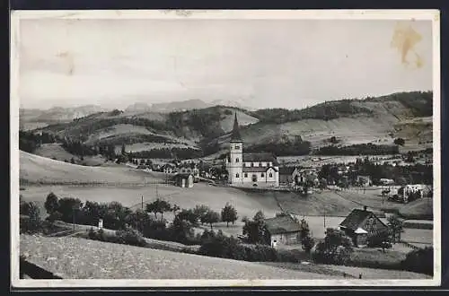
[[229, 143], [229, 159], [227, 170], [229, 173], [229, 182], [239, 184], [243, 182], [243, 141], [239, 131], [239, 123], [237, 121], [237, 113], [233, 118], [233, 132]]

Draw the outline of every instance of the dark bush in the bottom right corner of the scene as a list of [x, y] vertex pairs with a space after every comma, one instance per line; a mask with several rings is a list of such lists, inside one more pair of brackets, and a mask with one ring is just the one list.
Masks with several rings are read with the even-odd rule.
[[411, 272], [434, 275], [434, 248], [412, 250], [401, 262], [401, 266]]

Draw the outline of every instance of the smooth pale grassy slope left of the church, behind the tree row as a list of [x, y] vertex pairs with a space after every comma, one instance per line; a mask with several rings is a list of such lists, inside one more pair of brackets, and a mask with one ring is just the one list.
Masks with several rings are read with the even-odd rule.
[[20, 152], [22, 182], [40, 184], [142, 184], [163, 179], [163, 174], [127, 167], [87, 167]]

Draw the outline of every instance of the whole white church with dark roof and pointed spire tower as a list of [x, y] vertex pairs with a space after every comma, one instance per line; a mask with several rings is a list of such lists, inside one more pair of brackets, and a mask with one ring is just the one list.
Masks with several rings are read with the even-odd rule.
[[233, 119], [230, 151], [226, 158], [228, 182], [233, 186], [278, 187], [279, 165], [272, 153], [243, 153], [237, 114]]

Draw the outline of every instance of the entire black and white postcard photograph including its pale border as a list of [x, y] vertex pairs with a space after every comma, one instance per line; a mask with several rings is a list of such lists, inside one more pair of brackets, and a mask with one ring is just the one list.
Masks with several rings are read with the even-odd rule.
[[439, 13], [15, 11], [17, 287], [440, 283]]

